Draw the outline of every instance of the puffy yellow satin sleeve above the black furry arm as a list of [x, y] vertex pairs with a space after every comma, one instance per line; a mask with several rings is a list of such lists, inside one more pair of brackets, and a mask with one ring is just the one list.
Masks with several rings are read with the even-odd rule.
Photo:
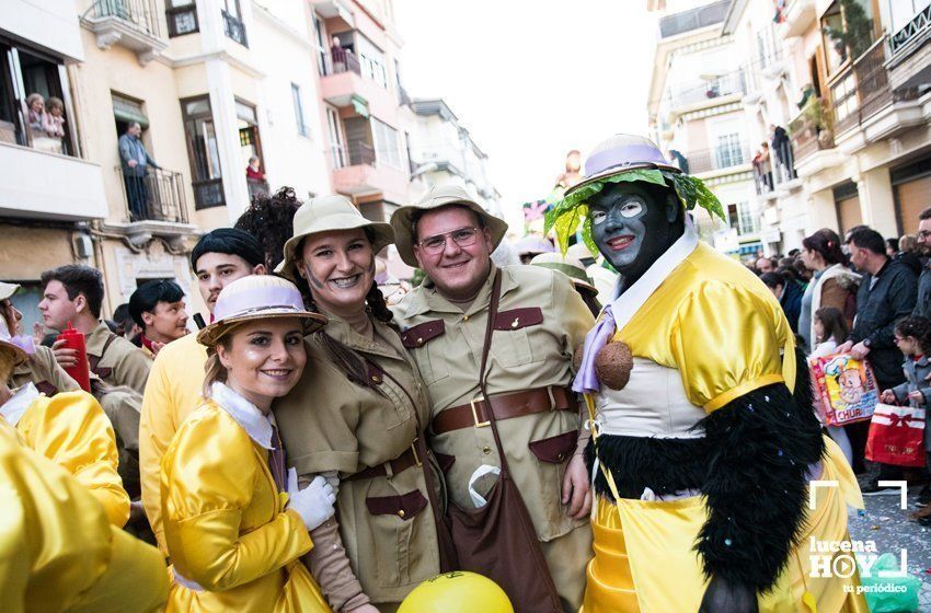
[[670, 347], [686, 394], [708, 413], [783, 382], [781, 349], [794, 371], [794, 342], [779, 303], [722, 281], [702, 284], [680, 303]]

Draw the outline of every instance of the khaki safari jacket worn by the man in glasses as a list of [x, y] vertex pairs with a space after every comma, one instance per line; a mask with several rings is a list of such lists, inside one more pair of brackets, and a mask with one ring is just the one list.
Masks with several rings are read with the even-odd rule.
[[[402, 329], [423, 326], [413, 335], [405, 334], [405, 346], [427, 385], [433, 417], [481, 395], [479, 368], [496, 271], [502, 275], [502, 286], [486, 367], [489, 394], [572, 384], [573, 351], [584, 342], [594, 319], [568, 277], [533, 266], [492, 265], [489, 279], [464, 312], [432, 285], [418, 287], [392, 308]], [[542, 542], [587, 523], [568, 517], [561, 504], [565, 460], [576, 450], [579, 426], [578, 410], [549, 410], [498, 421], [514, 481]], [[430, 448], [440, 465], [448, 466], [450, 501], [474, 509], [470, 478], [482, 464], [501, 465], [491, 428], [468, 427], [434, 436]], [[493, 478], [476, 481], [475, 491], [485, 497], [493, 485]]]

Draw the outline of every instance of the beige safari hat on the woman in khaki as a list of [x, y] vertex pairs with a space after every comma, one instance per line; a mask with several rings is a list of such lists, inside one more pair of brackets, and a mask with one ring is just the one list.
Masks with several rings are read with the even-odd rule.
[[370, 228], [372, 233], [371, 251], [378, 253], [394, 242], [394, 230], [380, 221], [363, 217], [361, 211], [345, 196], [330, 195], [311, 198], [295, 213], [294, 236], [285, 243], [285, 259], [275, 268], [279, 275], [297, 279], [295, 261], [299, 257], [297, 248], [307, 236], [334, 230], [354, 230]]

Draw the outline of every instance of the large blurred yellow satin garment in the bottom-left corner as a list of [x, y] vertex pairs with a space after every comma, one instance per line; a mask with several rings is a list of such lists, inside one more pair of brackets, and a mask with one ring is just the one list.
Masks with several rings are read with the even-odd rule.
[[2, 423], [0, 500], [0, 611], [150, 612], [164, 603], [158, 551], [110, 525], [71, 475]]

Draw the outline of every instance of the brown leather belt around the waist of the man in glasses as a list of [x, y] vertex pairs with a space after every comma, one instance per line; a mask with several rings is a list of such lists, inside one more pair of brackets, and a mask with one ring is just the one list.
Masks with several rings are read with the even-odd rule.
[[536, 388], [491, 398], [476, 397], [469, 404], [441, 410], [430, 424], [434, 435], [462, 428], [484, 428], [489, 425], [489, 410], [494, 409], [496, 420], [524, 417], [547, 410], [577, 410], [575, 392], [567, 388]]

